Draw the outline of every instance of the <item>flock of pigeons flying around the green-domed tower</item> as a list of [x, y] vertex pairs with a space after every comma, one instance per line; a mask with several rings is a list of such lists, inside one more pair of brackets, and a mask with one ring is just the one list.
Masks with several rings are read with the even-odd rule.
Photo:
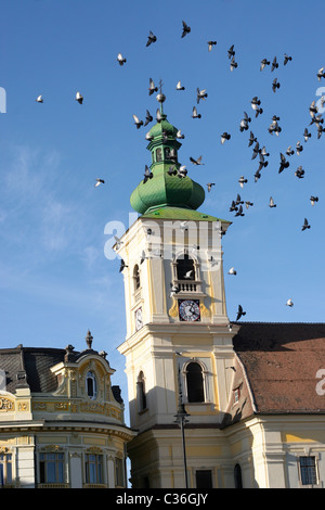
[[[184, 38], [187, 34], [191, 33], [191, 27], [183, 21], [182, 22], [182, 33], [181, 33], [181, 38]], [[146, 47], [150, 47], [151, 44], [155, 43], [157, 41], [157, 37], [153, 34], [152, 30], [150, 30], [150, 34], [147, 36], [147, 42], [146, 42]], [[212, 48], [217, 44], [217, 41], [216, 40], [209, 40], [207, 41], [207, 44], [208, 44], [208, 51], [210, 52], [212, 50]], [[236, 62], [235, 60], [235, 48], [234, 48], [234, 44], [230, 47], [230, 49], [227, 50], [227, 58], [230, 60], [230, 71], [233, 72], [234, 69], [237, 68], [238, 66], [238, 63]], [[292, 56], [290, 55], [287, 55], [286, 53], [284, 54], [284, 61], [283, 61], [283, 65], [286, 66], [289, 62], [292, 61]], [[121, 53], [118, 53], [117, 55], [117, 62], [120, 66], [123, 66], [126, 63], [127, 63], [127, 59], [121, 54]], [[274, 56], [273, 61], [271, 62], [271, 60], [269, 61], [268, 59], [263, 59], [260, 63], [260, 72], [263, 72], [263, 69], [266, 67], [266, 66], [270, 66], [271, 68], [271, 73], [273, 73], [275, 69], [278, 68], [280, 66], [280, 63], [277, 61], [277, 58]], [[320, 68], [320, 71], [316, 73], [316, 77], [317, 77], [317, 80], [321, 81], [322, 78], [325, 78], [325, 68], [322, 67]], [[162, 92], [161, 92], [161, 80], [159, 82], [159, 87], [160, 87], [160, 98], [164, 97]], [[273, 92], [275, 93], [281, 87], [281, 84], [278, 82], [277, 78], [275, 77], [272, 81], [272, 90]], [[158, 87], [155, 86], [155, 82], [152, 78], [150, 78], [150, 87], [148, 87], [148, 94], [152, 95], [154, 92], [158, 92]], [[179, 80], [176, 85], [176, 90], [178, 91], [183, 91], [185, 90], [185, 87], [182, 86], [181, 84], [181, 80]], [[200, 101], [204, 101], [206, 100], [206, 98], [208, 97], [208, 93], [207, 93], [207, 90], [206, 89], [199, 89], [197, 88], [196, 89], [196, 103], [197, 105], [199, 105], [199, 102]], [[78, 91], [76, 93], [76, 101], [79, 103], [79, 104], [82, 104], [83, 102], [83, 97], [82, 94]], [[159, 101], [159, 94], [157, 95], [157, 99]], [[42, 103], [43, 102], [43, 98], [42, 95], [39, 95], [36, 101], [38, 103]], [[161, 100], [164, 101], [164, 100]], [[262, 115], [263, 113], [263, 109], [261, 106], [261, 100], [258, 98], [258, 97], [253, 97], [251, 99], [251, 109], [252, 111], [255, 112], [255, 117], [257, 118], [259, 115]], [[321, 98], [321, 105], [322, 107], [324, 106], [325, 104], [325, 97], [322, 97]], [[315, 125], [316, 127], [316, 136], [317, 136], [317, 139], [320, 139], [322, 137], [322, 133], [325, 132], [325, 127], [323, 127], [323, 123], [324, 123], [324, 119], [322, 117], [322, 114], [318, 113], [318, 107], [316, 105], [316, 102], [313, 101], [309, 107], [309, 113], [310, 113], [310, 116], [311, 116], [311, 122], [310, 122], [310, 126], [312, 125]], [[193, 111], [192, 111], [192, 118], [202, 118], [202, 115], [198, 113], [197, 111], [197, 107], [196, 106], [193, 106]], [[135, 114], [133, 114], [133, 120], [134, 120], [134, 125], [136, 127], [136, 129], [140, 129], [142, 126], [145, 127], [147, 126], [151, 122], [153, 122], [153, 116], [151, 115], [150, 111], [146, 110], [146, 116], [145, 116], [145, 120], [143, 122], [142, 119], [140, 119]], [[156, 111], [156, 120], [157, 123], [160, 123], [162, 119], [161, 117], [161, 111], [160, 109], [157, 109]], [[275, 135], [276, 137], [280, 136], [281, 131], [282, 131], [282, 128], [280, 126], [280, 117], [274, 115], [272, 117], [272, 122], [269, 126], [269, 133], [271, 136]], [[269, 161], [268, 161], [268, 157], [270, 156], [270, 153], [268, 153], [265, 146], [260, 146], [260, 143], [259, 141], [257, 140], [257, 138], [255, 137], [253, 132], [250, 130], [250, 123], [251, 123], [251, 117], [247, 114], [247, 112], [244, 112], [244, 117], [242, 118], [240, 123], [239, 123], [239, 131], [240, 132], [244, 132], [244, 131], [250, 131], [249, 133], [249, 139], [248, 139], [248, 146], [252, 146], [252, 155], [251, 155], [251, 160], [255, 160], [255, 158], [259, 158], [259, 166], [258, 166], [258, 169], [256, 170], [256, 174], [253, 176], [255, 178], [255, 182], [257, 182], [260, 178], [261, 178], [261, 171], [263, 168], [265, 168], [269, 164]], [[162, 136], [166, 136], [167, 137], [167, 133], [164, 133], [162, 132]], [[304, 128], [303, 130], [303, 139], [304, 139], [304, 143], [308, 142], [308, 140], [311, 138], [312, 133], [309, 131], [309, 128]], [[146, 133], [145, 136], [146, 140], [151, 140], [151, 135], [150, 135], [150, 131]], [[177, 138], [179, 139], [183, 139], [184, 138], [184, 135], [182, 135], [181, 130], [179, 130], [177, 132]], [[221, 138], [221, 144], [223, 145], [225, 142], [227, 142], [230, 139], [231, 139], [231, 133], [224, 131], [223, 133], [220, 135], [220, 138]], [[298, 141], [296, 143], [296, 150], [292, 149], [292, 146], [288, 146], [286, 151], [281, 152], [280, 153], [280, 166], [278, 166], [278, 174], [281, 174], [282, 171], [284, 171], [286, 168], [289, 167], [290, 165], [290, 157], [295, 154], [297, 155], [300, 155], [301, 152], [303, 151], [303, 145], [300, 143], [300, 141]], [[170, 158], [171, 161], [174, 160], [174, 163], [177, 163], [177, 155], [176, 153], [170, 152]], [[198, 158], [194, 158], [194, 157], [190, 157], [190, 161], [192, 164], [194, 165], [204, 165], [204, 163], [202, 162], [202, 156], [199, 156]], [[186, 166], [185, 165], [171, 165], [169, 170], [168, 170], [168, 174], [170, 176], [178, 176], [179, 178], [184, 178], [186, 177], [187, 175], [187, 169], [186, 169]], [[304, 177], [304, 170], [302, 168], [302, 166], [299, 166], [297, 168], [297, 170], [295, 171], [295, 176], [299, 179], [302, 179]], [[144, 178], [143, 178], [143, 183], [145, 183], [148, 179], [152, 179], [154, 177], [153, 173], [151, 171], [151, 169], [148, 168], [147, 165], [145, 165], [145, 170], [144, 170]], [[103, 184], [105, 181], [104, 179], [102, 178], [98, 178], [96, 181], [95, 181], [95, 187], [100, 186], [100, 184]], [[244, 186], [248, 182], [248, 179], [245, 178], [244, 176], [240, 176], [239, 180], [238, 180], [238, 183], [240, 186], [240, 188], [243, 189]], [[207, 184], [207, 190], [208, 192], [211, 191], [212, 187], [216, 186], [214, 182], [208, 182]], [[312, 205], [314, 205], [316, 202], [318, 202], [318, 196], [314, 196], [312, 195], [310, 197], [310, 202]], [[235, 216], [238, 217], [238, 216], [245, 216], [244, 214], [244, 209], [243, 209], [243, 205], [244, 205], [244, 201], [242, 200], [240, 195], [237, 193], [237, 196], [235, 200], [232, 201], [232, 204], [230, 206], [230, 212], [234, 212], [235, 213]], [[249, 207], [251, 207], [253, 204], [249, 201], [246, 201], [245, 202], [245, 206], [246, 208], [248, 209]], [[276, 204], [274, 202], [274, 199], [272, 196], [270, 196], [270, 202], [269, 202], [269, 206], [271, 208], [273, 207], [276, 207]], [[310, 229], [310, 225], [309, 225], [309, 221], [307, 218], [304, 218], [304, 221], [303, 221], [303, 225], [301, 227], [301, 230], [304, 231], [304, 230], [308, 230]], [[221, 231], [221, 235], [223, 235], [225, 232], [222, 232]], [[117, 242], [120, 242], [117, 238], [116, 238], [116, 241]], [[141, 263], [146, 258], [145, 254], [143, 253], [142, 254], [142, 257], [141, 257]], [[125, 265], [125, 262], [121, 260], [121, 264], [120, 264], [120, 272], [126, 268], [127, 266]], [[191, 272], [191, 271], [190, 271]], [[188, 276], [186, 276], [186, 278], [191, 278], [191, 275], [188, 272]], [[234, 267], [232, 267], [229, 271], [229, 275], [236, 275], [236, 270]], [[172, 285], [171, 285], [172, 286]], [[171, 295], [176, 294], [178, 292], [178, 288], [172, 288], [171, 289]], [[294, 306], [294, 303], [292, 303], [292, 299], [288, 299], [287, 303], [286, 303], [287, 306], [289, 307], [292, 307]], [[239, 320], [243, 316], [246, 315], [246, 311], [244, 311], [242, 305], [238, 305], [238, 310], [237, 310], [237, 317], [236, 317], [236, 320]]]

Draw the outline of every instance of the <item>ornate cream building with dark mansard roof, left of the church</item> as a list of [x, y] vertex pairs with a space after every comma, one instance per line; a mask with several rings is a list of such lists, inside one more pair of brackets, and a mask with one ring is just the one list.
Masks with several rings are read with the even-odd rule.
[[126, 487], [123, 401], [105, 352], [0, 349], [0, 487]]

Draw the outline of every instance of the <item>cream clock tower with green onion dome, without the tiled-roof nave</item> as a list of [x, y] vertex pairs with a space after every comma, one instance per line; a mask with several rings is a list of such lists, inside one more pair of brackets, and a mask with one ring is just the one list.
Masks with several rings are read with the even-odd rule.
[[127, 319], [118, 350], [126, 357], [130, 425], [139, 431], [128, 447], [131, 482], [217, 486], [236, 329], [222, 266], [230, 222], [198, 211], [205, 190], [179, 163], [180, 131], [164, 113], [165, 99], [160, 91], [147, 133], [151, 165], [130, 199], [140, 216], [115, 245], [125, 264]]

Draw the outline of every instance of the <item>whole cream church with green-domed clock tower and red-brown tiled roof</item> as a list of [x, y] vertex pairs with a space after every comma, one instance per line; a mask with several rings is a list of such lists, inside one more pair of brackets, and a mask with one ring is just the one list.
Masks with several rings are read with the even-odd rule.
[[123, 262], [131, 483], [161, 487], [322, 487], [325, 324], [230, 323], [222, 246], [230, 221], [200, 213], [164, 113], [131, 194]]

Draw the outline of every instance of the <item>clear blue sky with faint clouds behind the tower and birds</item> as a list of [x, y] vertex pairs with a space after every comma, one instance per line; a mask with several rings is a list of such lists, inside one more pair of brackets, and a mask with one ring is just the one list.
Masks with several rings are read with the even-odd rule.
[[[230, 319], [240, 303], [246, 320], [324, 321], [325, 133], [317, 140], [309, 126], [309, 106], [325, 87], [316, 78], [325, 66], [324, 14], [323, 0], [2, 0], [1, 348], [72, 343], [83, 349], [90, 329], [127, 400], [125, 359], [116, 350], [126, 334], [123, 283], [119, 260], [104, 255], [104, 228], [113, 220], [128, 228], [130, 194], [151, 163], [146, 128], [135, 129], [132, 118], [144, 118], [146, 109], [155, 114], [150, 78], [162, 80], [165, 112], [185, 135], [181, 163], [200, 184], [216, 182], [200, 209], [233, 221], [222, 240]], [[185, 38], [183, 20], [191, 26]], [[146, 48], [150, 30], [157, 41]], [[209, 39], [217, 40], [211, 52]], [[238, 63], [233, 73], [231, 44]], [[118, 52], [127, 58], [122, 67]], [[287, 66], [285, 52], [292, 56]], [[278, 69], [260, 72], [260, 61], [275, 55]], [[275, 77], [281, 88], [273, 93]], [[176, 91], [178, 80], [185, 91]], [[202, 119], [192, 118], [197, 87], [208, 92], [198, 106]], [[75, 101], [78, 90], [82, 105]], [[39, 94], [42, 104], [35, 101]], [[255, 95], [263, 107], [258, 118]], [[258, 182], [249, 130], [239, 131], [244, 111], [270, 152]], [[280, 137], [268, 132], [273, 115], [281, 118]], [[221, 145], [224, 130], [232, 138]], [[303, 152], [278, 174], [280, 152], [298, 140]], [[199, 155], [205, 166], [194, 167], [190, 156]], [[303, 179], [295, 176], [300, 165]], [[242, 175], [248, 179], [243, 190]], [[98, 177], [105, 184], [94, 188]], [[253, 206], [235, 218], [229, 208], [237, 193]], [[314, 207], [312, 194], [320, 197]], [[306, 217], [311, 229], [302, 232]], [[232, 266], [236, 277], [226, 273]]]

